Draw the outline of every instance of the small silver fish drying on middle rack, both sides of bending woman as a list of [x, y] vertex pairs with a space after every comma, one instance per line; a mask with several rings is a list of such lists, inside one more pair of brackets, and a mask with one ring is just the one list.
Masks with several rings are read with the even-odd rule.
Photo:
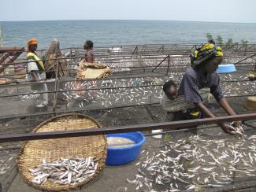
[[[175, 79], [176, 83], [180, 82], [177, 75], [170, 74], [168, 78]], [[150, 76], [122, 79], [98, 79], [94, 81], [80, 81], [79, 83], [68, 82], [65, 83], [63, 94], [67, 101], [76, 100], [76, 102], [80, 102], [78, 105], [81, 108], [87, 106], [87, 102], [93, 103], [91, 108], [145, 105], [160, 101], [162, 97], [161, 85], [166, 79], [166, 77]], [[246, 81], [245, 79], [247, 79], [246, 75], [221, 75], [221, 87], [224, 95], [237, 96], [254, 94], [256, 84]], [[65, 90], [74, 91], [65, 92]]]

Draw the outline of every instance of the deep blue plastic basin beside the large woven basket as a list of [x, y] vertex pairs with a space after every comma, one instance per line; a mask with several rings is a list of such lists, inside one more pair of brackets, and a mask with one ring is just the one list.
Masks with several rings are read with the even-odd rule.
[[146, 141], [146, 138], [141, 132], [121, 133], [121, 134], [109, 134], [106, 137], [123, 137], [131, 139], [135, 142], [135, 145], [124, 148], [107, 148], [106, 164], [108, 165], [121, 165], [128, 164], [135, 160], [139, 156], [139, 151]]

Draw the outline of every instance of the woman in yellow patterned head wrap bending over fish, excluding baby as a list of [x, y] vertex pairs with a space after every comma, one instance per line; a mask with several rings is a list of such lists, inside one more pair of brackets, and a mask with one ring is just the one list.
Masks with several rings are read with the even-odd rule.
[[[223, 60], [220, 46], [208, 43], [191, 53], [191, 68], [185, 72], [180, 83], [179, 94], [184, 94], [186, 102], [194, 103], [203, 116], [215, 117], [202, 102], [199, 90], [204, 87], [210, 88], [210, 93], [228, 115], [236, 115], [227, 100], [224, 98], [220, 87], [220, 77], [216, 70]], [[236, 122], [240, 124], [240, 122]], [[228, 124], [218, 124], [226, 133], [232, 134], [232, 128]]]

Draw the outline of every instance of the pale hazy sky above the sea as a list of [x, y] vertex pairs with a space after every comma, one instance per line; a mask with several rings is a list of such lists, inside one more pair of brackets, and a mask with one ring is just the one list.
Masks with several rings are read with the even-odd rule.
[[1, 0], [0, 20], [191, 20], [256, 23], [255, 0]]

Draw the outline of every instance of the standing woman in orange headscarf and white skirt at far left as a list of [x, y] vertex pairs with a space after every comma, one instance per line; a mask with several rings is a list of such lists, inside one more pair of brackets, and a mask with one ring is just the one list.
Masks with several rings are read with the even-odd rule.
[[[43, 61], [36, 54], [37, 49], [37, 40], [30, 39], [28, 40], [28, 54], [26, 55], [26, 59], [28, 61], [27, 72], [26, 72], [26, 80], [27, 81], [35, 81], [40, 82], [46, 79], [46, 72], [44, 68]], [[47, 92], [46, 83], [37, 83], [32, 85], [32, 90], [39, 90], [43, 92]], [[48, 105], [48, 94], [44, 93], [43, 98], [36, 103], [37, 107], [43, 107]]]

